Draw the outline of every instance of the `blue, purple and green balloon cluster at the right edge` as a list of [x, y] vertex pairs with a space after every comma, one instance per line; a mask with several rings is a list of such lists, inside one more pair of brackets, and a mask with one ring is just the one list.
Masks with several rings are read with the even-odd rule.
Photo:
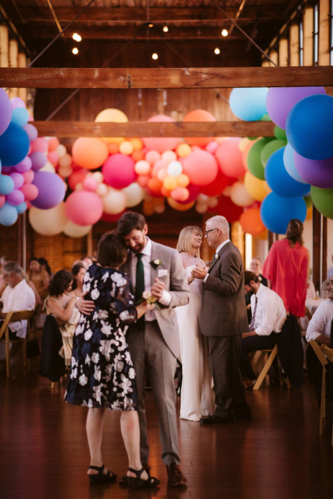
[[333, 219], [333, 97], [325, 88], [234, 88], [230, 107], [277, 125], [275, 138], [258, 139], [247, 156], [250, 174], [272, 190], [260, 209], [265, 227], [284, 234], [291, 219], [305, 220], [309, 200]]

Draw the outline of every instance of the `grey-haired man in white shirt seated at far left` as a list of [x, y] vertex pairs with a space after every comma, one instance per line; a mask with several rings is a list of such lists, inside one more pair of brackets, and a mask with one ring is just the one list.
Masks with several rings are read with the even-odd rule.
[[[6, 287], [2, 293], [1, 301], [3, 303], [0, 318], [4, 319], [7, 312], [13, 310], [19, 312], [21, 310], [33, 310], [35, 307], [34, 292], [22, 277], [22, 270], [18, 263], [11, 261], [6, 263], [1, 268], [3, 280]], [[2, 324], [0, 320], [0, 326]], [[26, 336], [26, 320], [9, 322], [9, 339], [15, 340], [25, 338]]]

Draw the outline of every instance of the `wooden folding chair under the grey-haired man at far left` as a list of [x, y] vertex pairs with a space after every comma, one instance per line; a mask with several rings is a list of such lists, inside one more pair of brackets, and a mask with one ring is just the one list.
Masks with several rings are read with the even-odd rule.
[[[30, 327], [30, 319], [34, 314], [33, 310], [21, 310], [20, 312], [9, 311], [7, 312], [3, 324], [0, 329], [0, 342], [5, 343], [6, 348], [6, 371], [7, 378], [9, 378], [9, 370], [10, 370], [10, 359], [16, 354], [19, 344], [23, 343], [23, 366], [24, 370], [26, 368], [26, 337], [28, 336], [29, 327]], [[9, 339], [9, 322], [15, 322], [17, 320], [27, 320], [27, 328], [25, 338], [17, 338], [15, 340]], [[4, 335], [4, 337], [3, 337]], [[12, 343], [12, 347], [10, 348], [10, 343]], [[16, 345], [16, 346], [14, 346]]]

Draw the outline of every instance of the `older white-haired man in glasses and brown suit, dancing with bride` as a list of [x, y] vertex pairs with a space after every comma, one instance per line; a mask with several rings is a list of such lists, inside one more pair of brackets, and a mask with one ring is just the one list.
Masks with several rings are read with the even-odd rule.
[[239, 370], [242, 333], [248, 329], [243, 260], [229, 239], [225, 217], [207, 220], [206, 238], [208, 245], [216, 249], [212, 264], [208, 272], [198, 266], [192, 275], [204, 280], [201, 330], [208, 336], [216, 410], [200, 422], [234, 423], [235, 418], [251, 418]]

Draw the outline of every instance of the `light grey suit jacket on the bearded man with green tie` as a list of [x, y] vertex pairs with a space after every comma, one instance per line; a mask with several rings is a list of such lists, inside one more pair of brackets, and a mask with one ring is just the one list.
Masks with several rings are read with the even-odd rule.
[[[187, 284], [183, 263], [178, 251], [169, 248], [168, 246], [154, 243], [153, 241], [151, 243], [151, 261], [155, 259], [161, 260], [161, 263], [157, 266], [157, 268], [154, 268], [154, 266], [151, 265], [151, 284], [154, 284], [155, 277], [158, 277], [159, 270], [166, 269], [167, 274], [158, 278], [165, 283], [166, 291], [171, 294], [171, 302], [169, 306], [166, 307], [160, 304], [160, 309], [157, 310], [155, 308], [154, 311], [164, 341], [172, 353], [179, 358], [179, 330], [175, 307], [186, 305], [186, 303], [188, 303], [190, 290]], [[124, 270], [124, 272], [126, 272], [129, 276], [131, 276], [131, 262], [132, 253], [129, 250], [127, 260], [122, 267], [122, 270]], [[135, 328], [135, 324], [130, 327], [131, 330], [132, 328]]]

